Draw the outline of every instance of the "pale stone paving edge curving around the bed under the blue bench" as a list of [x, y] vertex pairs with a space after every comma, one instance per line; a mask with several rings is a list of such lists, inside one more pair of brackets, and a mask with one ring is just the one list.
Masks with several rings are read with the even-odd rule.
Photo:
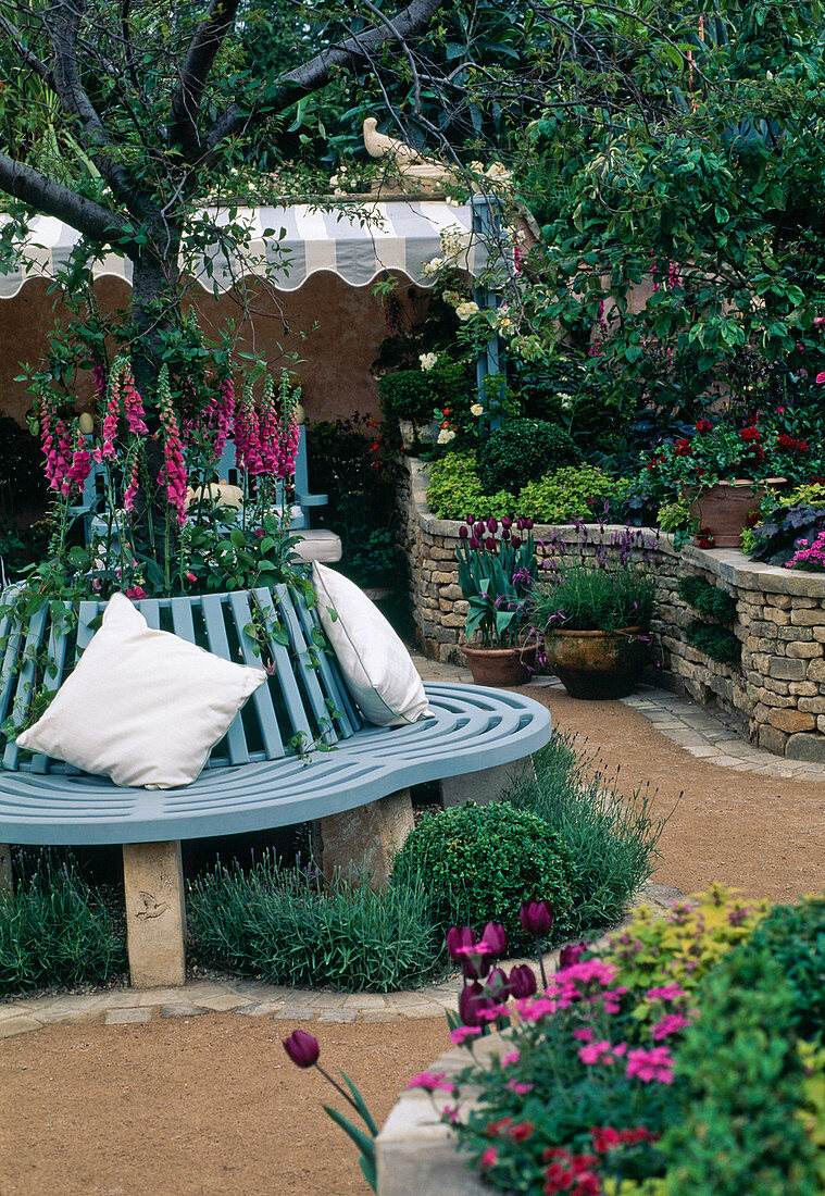
[[[637, 895], [658, 909], [667, 909], [678, 889], [647, 884]], [[552, 962], [555, 953], [548, 956]], [[530, 960], [512, 960], [530, 962]], [[459, 976], [411, 993], [323, 993], [287, 988], [262, 981], [195, 981], [182, 988], [110, 989], [90, 995], [37, 996], [0, 1005], [0, 1038], [42, 1030], [57, 1023], [106, 1026], [135, 1025], [155, 1018], [192, 1018], [204, 1013], [237, 1013], [275, 1021], [369, 1024], [442, 1018], [454, 1009], [462, 987]], [[286, 1027], [285, 1027], [286, 1029]]]

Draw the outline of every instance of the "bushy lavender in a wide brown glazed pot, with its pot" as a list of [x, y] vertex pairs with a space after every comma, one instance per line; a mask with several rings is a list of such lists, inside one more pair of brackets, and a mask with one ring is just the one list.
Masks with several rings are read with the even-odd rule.
[[632, 692], [649, 657], [655, 596], [653, 579], [628, 553], [619, 550], [611, 569], [600, 560], [558, 565], [533, 593], [548, 666], [572, 697], [591, 701]]

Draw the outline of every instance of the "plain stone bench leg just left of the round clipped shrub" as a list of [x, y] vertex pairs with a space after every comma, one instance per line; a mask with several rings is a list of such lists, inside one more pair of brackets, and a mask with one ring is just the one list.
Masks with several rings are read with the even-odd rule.
[[374, 889], [386, 889], [396, 852], [412, 830], [412, 801], [409, 789], [399, 789], [378, 801], [320, 819], [314, 836], [316, 854], [320, 838], [320, 867], [326, 880], [336, 872], [372, 873]]

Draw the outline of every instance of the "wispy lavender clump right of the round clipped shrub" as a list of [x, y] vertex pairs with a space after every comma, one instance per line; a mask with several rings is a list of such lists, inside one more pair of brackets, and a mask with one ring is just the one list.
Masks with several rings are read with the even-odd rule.
[[666, 819], [654, 817], [648, 792], [621, 797], [575, 738], [556, 732], [533, 765], [534, 779], [522, 777], [505, 797], [543, 818], [569, 848], [570, 934], [617, 922], [653, 871]]

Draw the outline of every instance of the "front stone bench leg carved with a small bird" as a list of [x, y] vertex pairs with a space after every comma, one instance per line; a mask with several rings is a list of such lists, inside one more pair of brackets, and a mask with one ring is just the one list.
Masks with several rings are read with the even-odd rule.
[[123, 881], [132, 987], [185, 984], [181, 844], [124, 843]]

